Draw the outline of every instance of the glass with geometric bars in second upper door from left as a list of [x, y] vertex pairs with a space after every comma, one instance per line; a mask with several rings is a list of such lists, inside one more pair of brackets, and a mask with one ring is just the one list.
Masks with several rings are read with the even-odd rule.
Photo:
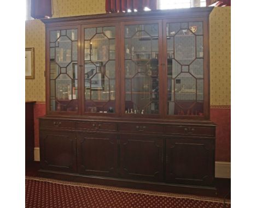
[[115, 112], [115, 27], [84, 29], [85, 112]]

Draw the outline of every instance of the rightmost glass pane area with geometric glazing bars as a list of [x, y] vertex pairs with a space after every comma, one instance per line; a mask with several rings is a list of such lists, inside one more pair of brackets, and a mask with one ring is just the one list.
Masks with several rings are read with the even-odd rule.
[[167, 23], [167, 114], [203, 115], [202, 22]]

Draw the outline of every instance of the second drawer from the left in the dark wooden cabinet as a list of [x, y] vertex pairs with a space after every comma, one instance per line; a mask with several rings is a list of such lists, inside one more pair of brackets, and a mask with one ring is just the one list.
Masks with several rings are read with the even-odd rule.
[[104, 130], [104, 131], [117, 131], [117, 124], [113, 123], [98, 123], [98, 122], [78, 122], [78, 129], [89, 130]]

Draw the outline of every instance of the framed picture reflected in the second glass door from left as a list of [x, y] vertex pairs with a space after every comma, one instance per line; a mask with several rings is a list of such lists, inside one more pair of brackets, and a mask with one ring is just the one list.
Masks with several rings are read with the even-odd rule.
[[104, 90], [104, 67], [102, 62], [84, 64], [84, 87], [91, 90]]

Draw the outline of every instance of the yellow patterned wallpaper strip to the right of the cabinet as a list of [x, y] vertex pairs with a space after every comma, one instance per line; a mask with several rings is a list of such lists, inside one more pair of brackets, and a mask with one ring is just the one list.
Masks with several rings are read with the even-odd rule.
[[211, 105], [231, 105], [230, 7], [216, 7], [210, 15]]

